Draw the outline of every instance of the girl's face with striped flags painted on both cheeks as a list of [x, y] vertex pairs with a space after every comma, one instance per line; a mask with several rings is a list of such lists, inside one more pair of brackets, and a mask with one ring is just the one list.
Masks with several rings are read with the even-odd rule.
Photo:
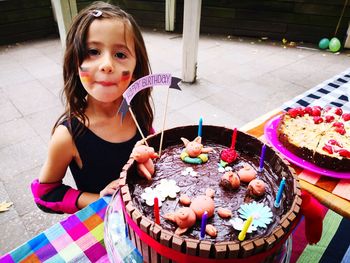
[[121, 98], [136, 66], [131, 30], [118, 19], [96, 19], [87, 34], [87, 56], [79, 68], [87, 93], [100, 102]]

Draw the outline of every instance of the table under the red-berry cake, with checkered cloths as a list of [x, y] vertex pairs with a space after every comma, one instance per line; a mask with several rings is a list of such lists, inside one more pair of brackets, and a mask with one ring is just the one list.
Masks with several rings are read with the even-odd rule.
[[[267, 121], [281, 114], [282, 109], [288, 110], [297, 106], [330, 105], [350, 112], [350, 98], [346, 96], [346, 89], [350, 89], [350, 69], [284, 103], [281, 109], [275, 109], [244, 125], [241, 130], [264, 140], [264, 126]], [[349, 179], [338, 179], [303, 170], [294, 164], [291, 166], [298, 174], [302, 189], [312, 193], [326, 207], [350, 218], [350, 173]]]

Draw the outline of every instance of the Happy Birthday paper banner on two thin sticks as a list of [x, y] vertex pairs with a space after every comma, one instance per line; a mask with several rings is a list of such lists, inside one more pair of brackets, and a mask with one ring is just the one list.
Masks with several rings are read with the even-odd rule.
[[[135, 115], [130, 107], [131, 100], [134, 98], [134, 96], [139, 91], [146, 89], [146, 88], [153, 87], [153, 86], [168, 86], [170, 89], [181, 90], [181, 88], [178, 86], [178, 83], [180, 81], [181, 81], [181, 79], [176, 78], [176, 77], [172, 77], [171, 74], [169, 74], [169, 73], [150, 74], [150, 75], [144, 76], [144, 77], [136, 80], [123, 93], [123, 101], [120, 104], [120, 107], [118, 109], [118, 113], [121, 113], [121, 120], [123, 121], [126, 113], [128, 111], [130, 111], [131, 117], [133, 118], [133, 120], [137, 126], [137, 129], [139, 130], [142, 138], [145, 139], [145, 136], [143, 135], [142, 130], [141, 130], [141, 128], [136, 120], [136, 117], [135, 117]], [[169, 94], [169, 89], [168, 89], [168, 94]], [[168, 102], [168, 95], [167, 95], [167, 102]], [[166, 105], [165, 109], [166, 108], [167, 108], [167, 105]], [[165, 111], [165, 113], [166, 113], [166, 111]], [[165, 122], [165, 116], [164, 116], [164, 122]], [[164, 130], [164, 125], [163, 125], [163, 130]], [[147, 144], [147, 142], [146, 142], [146, 144]]]

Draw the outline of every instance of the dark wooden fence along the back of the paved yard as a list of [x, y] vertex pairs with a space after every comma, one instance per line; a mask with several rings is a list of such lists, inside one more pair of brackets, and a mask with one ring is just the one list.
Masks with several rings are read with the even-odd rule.
[[[93, 1], [77, 0], [78, 10]], [[163, 31], [165, 0], [110, 0], [143, 28]], [[182, 32], [183, 2], [176, 1], [175, 32]], [[286, 38], [317, 44], [323, 37], [346, 38], [346, 0], [202, 0], [201, 33]], [[58, 35], [50, 0], [0, 0], [0, 45]]]

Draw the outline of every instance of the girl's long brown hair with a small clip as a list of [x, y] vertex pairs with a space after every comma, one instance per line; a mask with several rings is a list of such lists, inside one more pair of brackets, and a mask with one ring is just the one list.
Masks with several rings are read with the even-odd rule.
[[[101, 11], [102, 14], [97, 17], [94, 16], [94, 14], [96, 14], [96, 10]], [[105, 2], [94, 2], [92, 5], [81, 10], [74, 18], [66, 37], [66, 50], [63, 65], [64, 89], [62, 92], [62, 95], [66, 100], [66, 107], [65, 112], [55, 123], [52, 132], [54, 132], [55, 128], [63, 120], [67, 120], [69, 130], [73, 138], [75, 138], [81, 133], [83, 126], [81, 125], [77, 131], [72, 131], [70, 125], [71, 119], [73, 117], [77, 117], [83, 122], [84, 125], [88, 125], [89, 123], [88, 117], [85, 115], [85, 110], [87, 107], [87, 92], [81, 84], [78, 68], [82, 64], [87, 54], [86, 39], [91, 23], [95, 19], [105, 18], [120, 19], [124, 22], [124, 28], [129, 28], [128, 30], [131, 30], [131, 33], [133, 34], [136, 55], [136, 66], [133, 79], [144, 77], [151, 72], [145, 43], [140, 28], [133, 17], [117, 6]], [[146, 132], [151, 130], [153, 122], [153, 110], [150, 103], [150, 94], [151, 89], [144, 89], [138, 92], [131, 101], [131, 107], [135, 112], [136, 119]]]

